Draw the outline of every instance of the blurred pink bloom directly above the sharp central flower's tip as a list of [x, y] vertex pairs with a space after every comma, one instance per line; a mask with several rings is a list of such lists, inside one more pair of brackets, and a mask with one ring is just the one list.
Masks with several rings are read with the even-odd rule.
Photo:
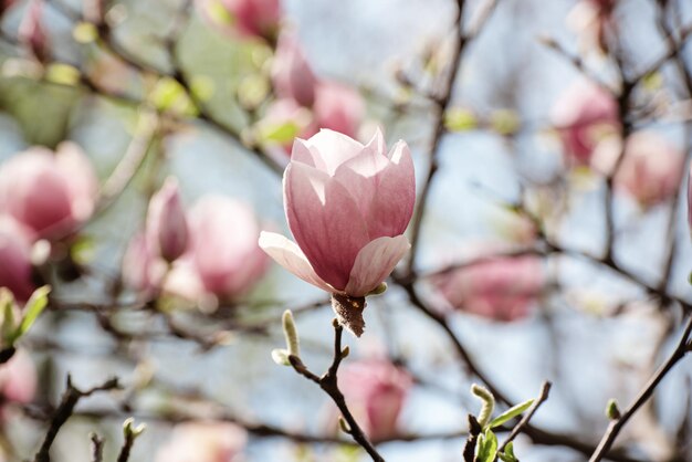
[[360, 94], [336, 82], [322, 82], [315, 88], [313, 114], [319, 128], [328, 128], [355, 138], [365, 105]]

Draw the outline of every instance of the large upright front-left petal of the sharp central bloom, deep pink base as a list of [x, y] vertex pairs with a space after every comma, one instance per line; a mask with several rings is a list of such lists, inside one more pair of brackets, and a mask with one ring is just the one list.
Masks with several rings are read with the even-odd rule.
[[369, 242], [353, 196], [324, 171], [291, 162], [284, 175], [284, 206], [291, 232], [315, 272], [344, 288], [356, 255]]

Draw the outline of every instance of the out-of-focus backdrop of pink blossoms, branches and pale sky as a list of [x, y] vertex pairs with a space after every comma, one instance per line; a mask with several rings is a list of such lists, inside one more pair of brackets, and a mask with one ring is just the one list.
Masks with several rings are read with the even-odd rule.
[[[80, 401], [54, 461], [93, 460], [90, 432], [115, 460], [130, 416], [147, 427], [135, 462], [369, 460], [271, 357], [291, 308], [304, 363], [332, 361], [327, 295], [256, 249], [260, 230], [290, 235], [282, 171], [319, 128], [367, 143], [379, 127], [416, 164], [411, 252], [339, 371], [386, 460], [461, 461], [471, 384], [505, 409], [549, 380], [515, 453], [585, 461], [608, 399], [626, 409], [682, 335], [689, 1], [0, 11], [0, 285], [18, 306], [52, 286], [0, 368], [3, 460], [33, 458], [67, 375], [123, 389]], [[190, 237], [168, 256], [146, 238], [161, 188]], [[612, 460], [692, 461], [691, 372], [668, 374]]]

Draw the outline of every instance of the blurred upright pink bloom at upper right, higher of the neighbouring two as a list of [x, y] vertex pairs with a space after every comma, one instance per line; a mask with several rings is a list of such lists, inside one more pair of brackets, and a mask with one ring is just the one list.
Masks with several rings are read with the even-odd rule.
[[588, 166], [597, 145], [620, 128], [618, 106], [604, 88], [579, 81], [556, 102], [551, 115], [568, 159]]

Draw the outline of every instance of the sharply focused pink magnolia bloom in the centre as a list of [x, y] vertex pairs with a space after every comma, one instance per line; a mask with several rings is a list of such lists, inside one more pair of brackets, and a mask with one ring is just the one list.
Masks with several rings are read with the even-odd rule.
[[387, 154], [379, 130], [365, 146], [332, 130], [296, 139], [283, 187], [297, 245], [262, 232], [260, 246], [317, 287], [365, 296], [410, 246], [402, 233], [413, 212], [416, 182], [403, 141]]

